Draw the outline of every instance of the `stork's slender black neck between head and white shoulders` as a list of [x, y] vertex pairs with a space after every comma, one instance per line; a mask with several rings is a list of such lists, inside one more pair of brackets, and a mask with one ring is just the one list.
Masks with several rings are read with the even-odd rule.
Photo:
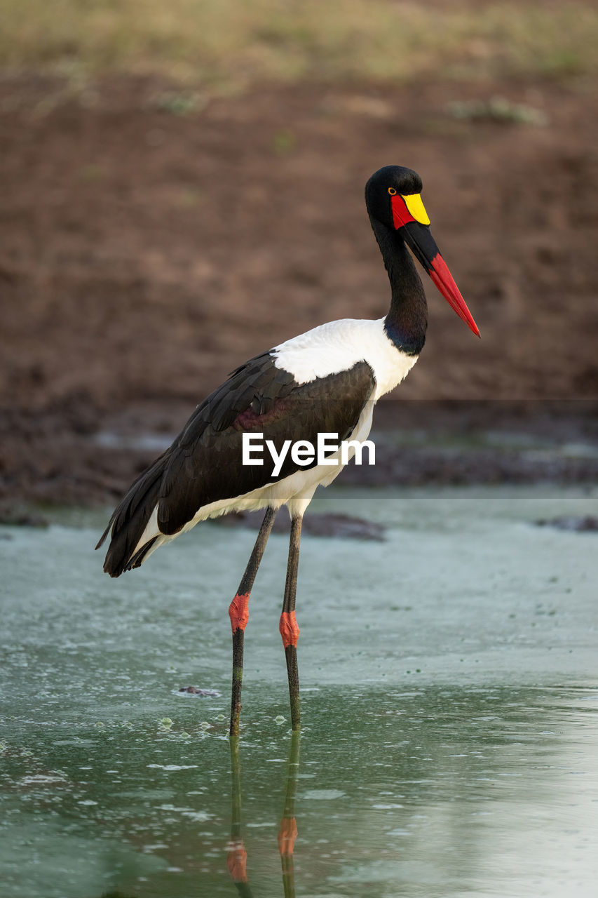
[[427, 302], [409, 250], [399, 234], [370, 218], [391, 282], [391, 308], [384, 330], [397, 349], [418, 356], [426, 342]]

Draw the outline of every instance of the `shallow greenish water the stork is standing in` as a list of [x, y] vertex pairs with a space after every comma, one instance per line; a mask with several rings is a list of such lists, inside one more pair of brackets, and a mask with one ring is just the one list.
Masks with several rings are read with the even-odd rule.
[[533, 521], [597, 495], [323, 493], [387, 540], [303, 540], [295, 745], [271, 538], [233, 756], [226, 609], [254, 533], [204, 525], [112, 581], [101, 515], [2, 528], [2, 894], [593, 896], [598, 536]]

